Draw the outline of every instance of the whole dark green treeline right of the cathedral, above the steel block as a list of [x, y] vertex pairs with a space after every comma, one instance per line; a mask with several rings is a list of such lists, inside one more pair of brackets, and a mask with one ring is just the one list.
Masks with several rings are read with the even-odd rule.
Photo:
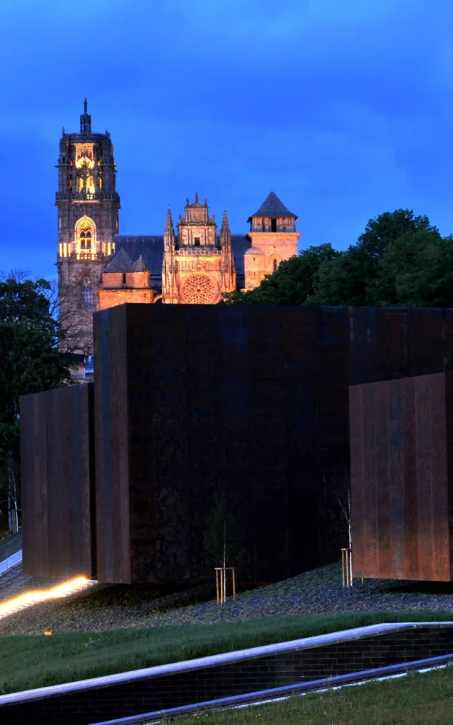
[[371, 219], [345, 252], [304, 249], [224, 304], [453, 307], [453, 237], [410, 210]]

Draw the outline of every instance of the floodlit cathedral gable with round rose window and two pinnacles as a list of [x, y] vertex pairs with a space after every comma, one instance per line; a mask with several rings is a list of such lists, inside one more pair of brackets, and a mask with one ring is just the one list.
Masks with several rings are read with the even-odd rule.
[[223, 292], [236, 289], [236, 271], [231, 250], [231, 232], [226, 212], [217, 239], [215, 216], [209, 217], [195, 194], [186, 203], [175, 235], [170, 209], [164, 233], [162, 302], [167, 304], [215, 305]]

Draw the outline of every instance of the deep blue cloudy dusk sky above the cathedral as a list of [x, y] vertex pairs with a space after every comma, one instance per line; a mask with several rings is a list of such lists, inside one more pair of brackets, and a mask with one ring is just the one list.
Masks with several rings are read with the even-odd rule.
[[269, 191], [301, 247], [409, 207], [453, 233], [451, 0], [2, 0], [0, 269], [54, 276], [59, 138], [115, 145], [120, 233]]

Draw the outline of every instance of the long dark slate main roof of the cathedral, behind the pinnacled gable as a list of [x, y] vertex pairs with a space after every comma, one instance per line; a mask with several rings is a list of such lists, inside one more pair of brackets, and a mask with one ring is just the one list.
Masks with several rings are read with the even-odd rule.
[[[141, 257], [146, 269], [151, 270], [152, 278], [155, 281], [160, 280], [162, 277], [162, 262], [164, 261], [163, 236], [123, 236], [122, 234], [117, 234], [115, 237], [115, 245], [116, 254], [106, 268], [106, 272], [138, 271], [136, 264], [138, 264], [139, 258]], [[240, 286], [244, 283], [244, 254], [249, 247], [250, 241], [244, 234], [231, 235], [231, 249], [233, 251], [236, 275]], [[125, 254], [125, 256], [122, 255], [121, 260], [125, 260], [125, 263], [131, 265], [131, 268], [119, 269], [116, 264], [115, 268], [111, 269], [111, 266], [115, 264], [115, 260], [118, 260], [120, 257], [121, 252]], [[126, 262], [126, 257], [128, 262]]]

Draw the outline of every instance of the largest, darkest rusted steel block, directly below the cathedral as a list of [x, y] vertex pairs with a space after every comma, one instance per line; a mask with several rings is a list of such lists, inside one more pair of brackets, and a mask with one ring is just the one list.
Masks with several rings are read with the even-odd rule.
[[337, 560], [349, 385], [453, 367], [452, 310], [128, 305], [94, 315], [100, 581], [201, 581], [215, 488], [242, 573]]

